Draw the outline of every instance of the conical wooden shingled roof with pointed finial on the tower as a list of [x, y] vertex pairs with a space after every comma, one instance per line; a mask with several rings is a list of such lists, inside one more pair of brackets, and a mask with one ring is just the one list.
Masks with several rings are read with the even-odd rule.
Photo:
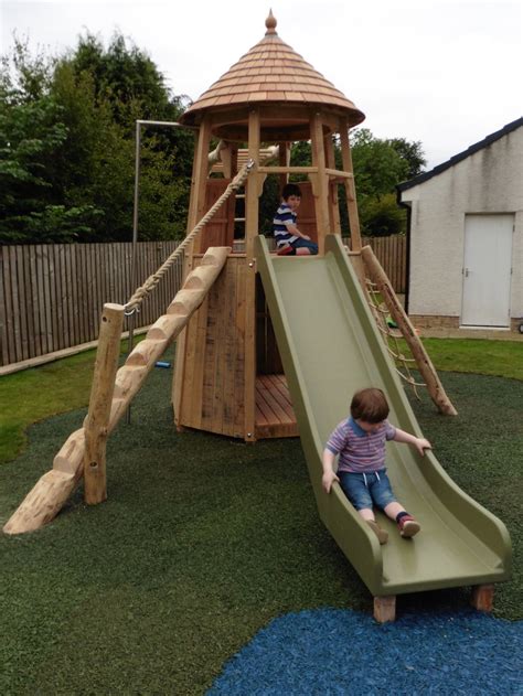
[[195, 122], [196, 115], [206, 109], [259, 103], [328, 105], [348, 113], [351, 126], [365, 118], [343, 93], [281, 41], [271, 12], [265, 24], [264, 39], [192, 104], [183, 122]]

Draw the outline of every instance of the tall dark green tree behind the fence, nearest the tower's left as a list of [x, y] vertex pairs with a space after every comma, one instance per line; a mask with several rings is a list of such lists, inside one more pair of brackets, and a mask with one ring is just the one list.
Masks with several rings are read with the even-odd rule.
[[[132, 229], [136, 121], [178, 120], [183, 97], [172, 96], [146, 53], [115, 34], [107, 50], [81, 38], [55, 71], [54, 93], [66, 106], [70, 142], [64, 193], [104, 210], [90, 239], [129, 239]], [[193, 136], [180, 129], [142, 128], [140, 239], [183, 235]], [[72, 157], [73, 156], [73, 157]]]

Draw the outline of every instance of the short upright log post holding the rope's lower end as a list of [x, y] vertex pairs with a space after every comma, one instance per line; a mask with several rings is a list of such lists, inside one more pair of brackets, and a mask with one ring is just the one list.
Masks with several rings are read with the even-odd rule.
[[121, 304], [104, 304], [89, 411], [84, 424], [84, 499], [87, 505], [103, 503], [107, 497], [105, 453], [124, 314]]

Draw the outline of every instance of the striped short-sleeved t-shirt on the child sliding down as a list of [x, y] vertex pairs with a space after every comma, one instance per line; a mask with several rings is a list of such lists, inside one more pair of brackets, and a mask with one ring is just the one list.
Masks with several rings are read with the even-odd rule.
[[396, 428], [384, 420], [376, 432], [366, 432], [353, 418], [342, 420], [325, 447], [340, 454], [338, 471], [367, 473], [385, 467], [385, 441], [393, 440]]

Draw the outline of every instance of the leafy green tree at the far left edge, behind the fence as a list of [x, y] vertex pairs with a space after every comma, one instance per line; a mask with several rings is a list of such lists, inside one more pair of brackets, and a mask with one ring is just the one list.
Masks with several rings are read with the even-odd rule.
[[0, 64], [0, 242], [71, 242], [95, 211], [61, 204], [51, 163], [67, 137], [49, 94], [52, 61], [15, 41]]

